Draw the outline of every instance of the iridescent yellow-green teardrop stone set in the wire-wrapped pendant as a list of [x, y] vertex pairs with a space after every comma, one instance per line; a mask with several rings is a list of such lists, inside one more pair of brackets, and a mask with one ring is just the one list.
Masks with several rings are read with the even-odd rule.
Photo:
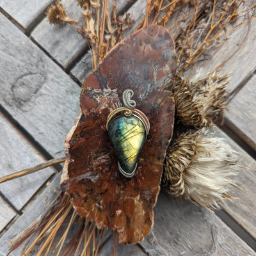
[[108, 124], [108, 134], [123, 175], [132, 177], [146, 140], [146, 129], [136, 115], [117, 116]]

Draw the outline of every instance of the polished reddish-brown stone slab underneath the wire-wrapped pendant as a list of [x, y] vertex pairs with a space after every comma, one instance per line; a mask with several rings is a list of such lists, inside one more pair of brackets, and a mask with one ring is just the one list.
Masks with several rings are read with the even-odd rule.
[[[176, 71], [173, 40], [166, 29], [148, 26], [116, 45], [83, 83], [81, 113], [69, 132], [61, 187], [81, 216], [113, 228], [120, 244], [141, 241], [153, 225], [166, 149], [172, 138]], [[134, 177], [118, 171], [106, 118], [132, 89], [150, 131]]]

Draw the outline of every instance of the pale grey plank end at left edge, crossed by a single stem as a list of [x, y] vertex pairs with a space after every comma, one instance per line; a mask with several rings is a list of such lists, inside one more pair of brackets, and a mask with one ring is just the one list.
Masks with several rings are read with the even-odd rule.
[[[29, 145], [28, 141], [16, 131], [15, 127], [1, 113], [0, 126], [1, 177], [44, 162], [43, 157]], [[52, 173], [54, 171], [51, 168], [46, 168], [26, 177], [4, 182], [0, 184], [0, 191], [20, 210]]]

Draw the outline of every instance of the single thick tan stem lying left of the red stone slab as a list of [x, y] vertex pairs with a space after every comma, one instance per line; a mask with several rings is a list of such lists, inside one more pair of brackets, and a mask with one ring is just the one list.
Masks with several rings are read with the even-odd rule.
[[39, 170], [42, 170], [42, 169], [47, 168], [49, 166], [52, 166], [54, 164], [63, 163], [63, 162], [65, 162], [65, 159], [66, 158], [52, 159], [52, 160], [46, 161], [45, 163], [37, 164], [33, 167], [24, 169], [20, 172], [15, 172], [15, 173], [6, 175], [6, 176], [0, 178], [0, 184], [3, 183], [3, 182], [6, 182], [8, 180], [13, 180], [13, 179], [22, 177], [24, 175], [28, 175], [28, 174], [33, 173], [33, 172], [37, 172]]

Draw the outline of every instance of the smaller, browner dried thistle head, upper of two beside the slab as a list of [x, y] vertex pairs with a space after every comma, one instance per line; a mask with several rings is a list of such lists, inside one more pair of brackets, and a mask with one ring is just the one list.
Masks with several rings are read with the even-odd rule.
[[212, 74], [197, 80], [177, 77], [173, 97], [177, 116], [183, 125], [195, 129], [211, 127], [225, 109], [229, 75]]

